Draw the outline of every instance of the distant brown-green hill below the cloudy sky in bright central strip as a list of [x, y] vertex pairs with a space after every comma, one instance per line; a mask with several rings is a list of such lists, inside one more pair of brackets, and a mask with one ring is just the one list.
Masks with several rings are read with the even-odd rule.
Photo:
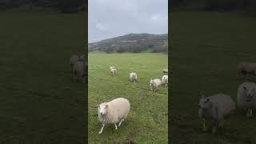
[[106, 53], [140, 53], [142, 51], [167, 52], [168, 34], [126, 34], [100, 42], [89, 43], [88, 51]]

